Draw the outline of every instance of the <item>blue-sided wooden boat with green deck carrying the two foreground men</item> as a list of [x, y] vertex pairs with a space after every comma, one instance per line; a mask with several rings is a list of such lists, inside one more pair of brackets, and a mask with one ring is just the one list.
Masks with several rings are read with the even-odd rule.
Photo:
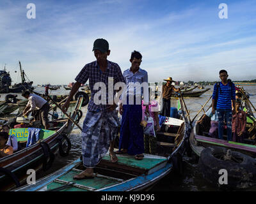
[[[77, 158], [60, 170], [44, 177], [34, 185], [19, 187], [15, 191], [141, 191], [150, 189], [172, 170], [182, 168], [182, 155], [188, 141], [188, 120], [181, 104], [182, 119], [166, 119], [173, 133], [158, 133], [157, 148], [161, 155], [144, 154], [138, 161], [134, 156], [118, 154], [118, 162], [110, 162], [107, 154], [97, 165], [94, 179], [74, 180], [73, 176], [84, 170]], [[172, 122], [175, 121], [175, 122]], [[172, 142], [172, 143], [171, 143]], [[171, 182], [171, 181], [170, 181]]]

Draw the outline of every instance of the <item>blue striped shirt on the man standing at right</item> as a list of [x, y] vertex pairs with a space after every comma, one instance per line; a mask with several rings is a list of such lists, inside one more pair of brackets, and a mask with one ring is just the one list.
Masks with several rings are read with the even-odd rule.
[[231, 100], [236, 100], [235, 85], [232, 83], [232, 87], [230, 87], [230, 82], [228, 82], [227, 85], [223, 85], [220, 82], [220, 87], [218, 89], [218, 96], [217, 96], [217, 84], [214, 84], [212, 99], [217, 99], [216, 108], [231, 109], [232, 108]]

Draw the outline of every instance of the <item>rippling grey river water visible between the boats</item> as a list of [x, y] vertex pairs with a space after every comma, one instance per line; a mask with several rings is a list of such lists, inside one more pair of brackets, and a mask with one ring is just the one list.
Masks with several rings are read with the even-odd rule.
[[[202, 96], [198, 98], [184, 98], [186, 106], [188, 108], [191, 120], [195, 117], [196, 113], [202, 108], [202, 105], [209, 99], [212, 95], [213, 86], [205, 86], [206, 88], [211, 88], [209, 91], [202, 94]], [[253, 106], [256, 106], [256, 85], [244, 86], [245, 91], [250, 93], [250, 101]], [[36, 92], [44, 93], [44, 87], [36, 87]], [[194, 91], [199, 91], [199, 89], [195, 89]], [[50, 95], [60, 95], [60, 94], [68, 94], [70, 91], [65, 90], [63, 87], [56, 91], [49, 90]], [[0, 101], [4, 100], [4, 96], [6, 94], [1, 94]], [[22, 98], [20, 94], [18, 94], [18, 98]], [[207, 104], [209, 106], [211, 101]], [[87, 106], [82, 107], [83, 117], [79, 121], [79, 125], [83, 126], [83, 120], [87, 112]], [[202, 114], [202, 113], [201, 113]], [[200, 115], [201, 115], [200, 114]], [[255, 112], [254, 112], [255, 114]], [[198, 117], [200, 117], [198, 115]], [[197, 117], [197, 118], [198, 118]], [[196, 121], [196, 119], [195, 119]], [[195, 122], [194, 122], [195, 124]], [[45, 175], [52, 173], [63, 166], [67, 165], [74, 161], [77, 157], [81, 155], [81, 131], [79, 128], [74, 126], [72, 133], [70, 134], [70, 141], [72, 143], [72, 148], [70, 150], [70, 154], [67, 157], [56, 156], [52, 168], [48, 171], [38, 171], [36, 175], [36, 179], [40, 179]], [[182, 176], [177, 176], [173, 172], [164, 177], [164, 179], [160, 180], [156, 186], [154, 186], [151, 191], [218, 191], [215, 186], [212, 186], [211, 183], [207, 182], [200, 171], [198, 170], [197, 163], [193, 157], [184, 156], [183, 157], [184, 164], [184, 174]], [[245, 191], [256, 191], [256, 187], [251, 187], [250, 189], [245, 189]]]

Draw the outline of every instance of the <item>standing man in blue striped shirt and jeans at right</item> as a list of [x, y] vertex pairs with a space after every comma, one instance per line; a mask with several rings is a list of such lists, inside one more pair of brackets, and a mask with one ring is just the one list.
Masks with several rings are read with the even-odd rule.
[[[212, 93], [212, 114], [217, 111], [219, 138], [223, 140], [224, 118], [227, 122], [227, 140], [232, 140], [232, 113], [236, 112], [236, 87], [231, 80], [227, 80], [228, 73], [220, 71], [221, 82], [214, 84]], [[231, 103], [232, 102], [232, 103]]]

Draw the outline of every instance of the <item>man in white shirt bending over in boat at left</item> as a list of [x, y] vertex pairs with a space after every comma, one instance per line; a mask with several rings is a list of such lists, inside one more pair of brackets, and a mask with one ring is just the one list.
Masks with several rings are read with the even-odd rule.
[[48, 129], [49, 128], [48, 113], [50, 110], [49, 103], [41, 96], [38, 96], [36, 94], [31, 94], [29, 91], [22, 92], [22, 96], [28, 99], [28, 104], [23, 111], [24, 117], [28, 116], [30, 112], [37, 109], [40, 111], [40, 119], [42, 120], [42, 124], [44, 128]]

